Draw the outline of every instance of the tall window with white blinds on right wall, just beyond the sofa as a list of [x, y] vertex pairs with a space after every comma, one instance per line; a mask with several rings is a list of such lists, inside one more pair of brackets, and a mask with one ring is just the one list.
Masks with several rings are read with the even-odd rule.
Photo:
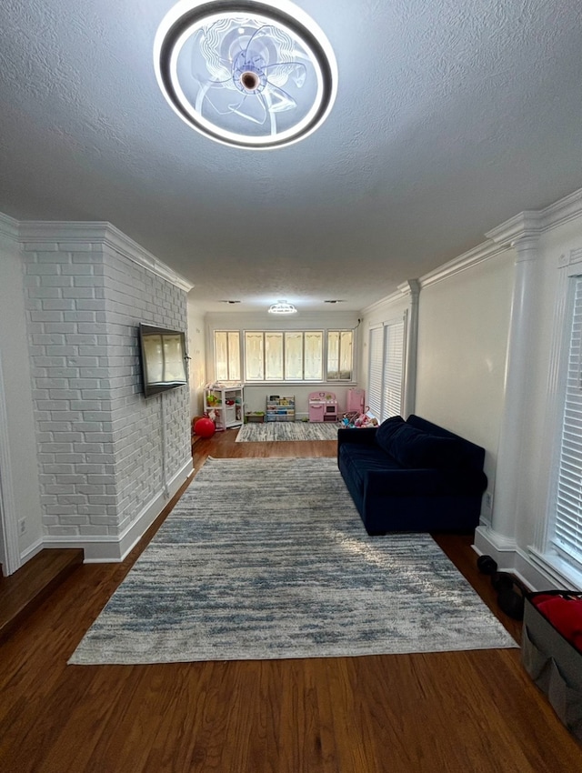
[[404, 340], [403, 319], [370, 329], [367, 404], [378, 421], [402, 411]]

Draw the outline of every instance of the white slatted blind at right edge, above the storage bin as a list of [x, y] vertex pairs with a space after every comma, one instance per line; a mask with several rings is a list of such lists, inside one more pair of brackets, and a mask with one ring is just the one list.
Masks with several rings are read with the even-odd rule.
[[551, 543], [569, 563], [582, 569], [582, 277], [577, 276], [575, 282]]

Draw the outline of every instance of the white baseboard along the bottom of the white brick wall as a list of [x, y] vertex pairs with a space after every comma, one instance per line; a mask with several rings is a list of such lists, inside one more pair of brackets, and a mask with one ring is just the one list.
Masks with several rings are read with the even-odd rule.
[[176, 475], [168, 481], [169, 497], [165, 497], [160, 491], [144, 507], [138, 517], [125, 529], [123, 534], [117, 537], [51, 537], [46, 536], [41, 547], [82, 547], [85, 551], [86, 564], [103, 564], [123, 561], [125, 556], [133, 550], [135, 545], [144, 536], [146, 530], [154, 523], [156, 517], [166, 507], [168, 499], [176, 494], [176, 491], [194, 473], [192, 459], [188, 458]]

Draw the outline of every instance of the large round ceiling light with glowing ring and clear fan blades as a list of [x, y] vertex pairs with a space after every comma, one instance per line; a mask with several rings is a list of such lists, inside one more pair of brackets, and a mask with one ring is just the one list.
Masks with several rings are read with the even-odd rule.
[[332, 47], [287, 0], [181, 0], [157, 30], [154, 66], [177, 115], [224, 145], [291, 145], [336, 99]]

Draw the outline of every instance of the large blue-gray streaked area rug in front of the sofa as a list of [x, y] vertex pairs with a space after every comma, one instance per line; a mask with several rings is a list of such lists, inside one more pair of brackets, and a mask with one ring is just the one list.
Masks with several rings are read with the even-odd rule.
[[335, 459], [210, 457], [69, 662], [511, 647], [431, 537], [367, 536]]

